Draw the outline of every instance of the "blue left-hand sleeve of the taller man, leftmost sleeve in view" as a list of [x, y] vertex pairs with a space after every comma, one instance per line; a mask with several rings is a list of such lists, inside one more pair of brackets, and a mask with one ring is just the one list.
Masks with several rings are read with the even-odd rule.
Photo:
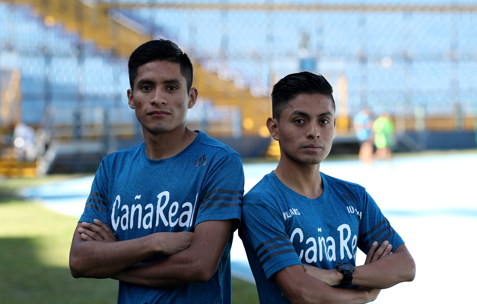
[[98, 219], [111, 227], [111, 208], [108, 206], [110, 206], [108, 201], [108, 180], [104, 170], [104, 161], [102, 161], [94, 176], [91, 192], [86, 200], [79, 222], [93, 223], [94, 219]]

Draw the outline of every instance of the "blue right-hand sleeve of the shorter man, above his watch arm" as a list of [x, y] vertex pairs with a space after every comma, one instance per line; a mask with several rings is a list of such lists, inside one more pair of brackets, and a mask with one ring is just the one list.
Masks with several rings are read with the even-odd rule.
[[393, 245], [393, 251], [404, 244], [403, 239], [391, 227], [391, 223], [384, 217], [374, 199], [365, 192], [364, 194], [365, 210], [359, 229], [358, 247], [363, 252], [369, 252], [374, 241], [381, 245], [388, 240]]

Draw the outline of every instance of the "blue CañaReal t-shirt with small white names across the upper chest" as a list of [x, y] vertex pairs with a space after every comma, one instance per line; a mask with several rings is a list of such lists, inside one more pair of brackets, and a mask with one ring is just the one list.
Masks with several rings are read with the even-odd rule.
[[243, 198], [239, 236], [260, 303], [288, 303], [269, 280], [285, 267], [355, 265], [357, 249], [367, 253], [374, 241], [388, 240], [393, 250], [404, 244], [363, 187], [323, 173], [321, 178], [323, 194], [318, 199], [296, 193], [273, 172]]

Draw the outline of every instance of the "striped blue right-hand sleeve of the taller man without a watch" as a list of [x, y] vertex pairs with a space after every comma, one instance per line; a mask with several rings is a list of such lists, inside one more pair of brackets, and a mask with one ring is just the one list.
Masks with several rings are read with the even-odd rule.
[[244, 174], [242, 159], [229, 153], [211, 170], [202, 186], [195, 225], [206, 220], [234, 220], [240, 226]]

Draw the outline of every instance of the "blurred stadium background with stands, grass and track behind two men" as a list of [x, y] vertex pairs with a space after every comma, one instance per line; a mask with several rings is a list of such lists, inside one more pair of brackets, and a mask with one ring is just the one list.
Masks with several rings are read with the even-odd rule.
[[[280, 159], [273, 84], [325, 76], [337, 125], [321, 170], [365, 186], [417, 262], [376, 302], [467, 301], [419, 271], [466, 278], [442, 262], [477, 249], [476, 37], [473, 0], [0, 0], [0, 302], [116, 301], [114, 281], [71, 277], [69, 245], [102, 157], [144, 140], [127, 59], [159, 38], [194, 64], [187, 126], [239, 152], [246, 191]], [[244, 254], [237, 237], [234, 303], [258, 303]]]

